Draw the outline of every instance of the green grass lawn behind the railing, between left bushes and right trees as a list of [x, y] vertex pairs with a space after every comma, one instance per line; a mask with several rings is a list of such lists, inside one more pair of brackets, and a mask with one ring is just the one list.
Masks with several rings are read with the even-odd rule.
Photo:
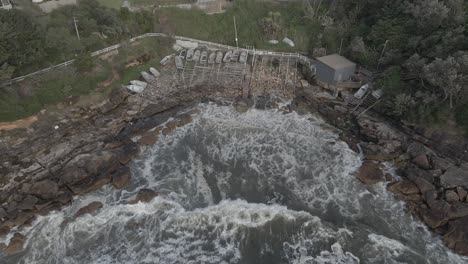
[[[292, 39], [296, 47], [271, 45], [259, 25], [268, 12], [279, 12], [284, 21], [284, 37]], [[177, 35], [235, 46], [233, 17], [236, 17], [239, 46], [255, 45], [260, 49], [306, 51], [313, 28], [304, 21], [301, 1], [278, 4], [271, 1], [237, 0], [225, 13], [207, 15], [201, 10], [163, 8], [157, 17], [167, 18], [167, 27]], [[164, 25], [161, 25], [164, 28]], [[282, 40], [278, 39], [280, 42]]]

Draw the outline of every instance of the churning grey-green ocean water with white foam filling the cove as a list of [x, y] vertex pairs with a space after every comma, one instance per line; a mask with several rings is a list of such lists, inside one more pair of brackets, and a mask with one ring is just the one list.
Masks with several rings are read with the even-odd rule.
[[[0, 263], [467, 263], [384, 183], [356, 180], [361, 157], [318, 117], [198, 108], [131, 164], [129, 186], [40, 217]], [[159, 196], [128, 204], [142, 188]], [[104, 207], [73, 217], [92, 201]]]

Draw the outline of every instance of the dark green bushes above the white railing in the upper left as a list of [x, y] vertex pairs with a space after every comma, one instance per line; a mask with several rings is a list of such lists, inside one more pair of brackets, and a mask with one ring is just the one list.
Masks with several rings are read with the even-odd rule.
[[[78, 3], [49, 15], [38, 15], [34, 8], [0, 10], [0, 76], [20, 76], [153, 31], [153, 16], [149, 12], [115, 10], [96, 0]], [[77, 38], [73, 17], [78, 19], [81, 40]], [[7, 74], [11, 67], [13, 73]]]

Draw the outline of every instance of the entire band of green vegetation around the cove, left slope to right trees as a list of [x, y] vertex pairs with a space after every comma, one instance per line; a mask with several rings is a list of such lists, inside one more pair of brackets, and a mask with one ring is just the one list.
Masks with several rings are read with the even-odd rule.
[[[110, 77], [106, 75], [111, 72], [109, 65], [78, 54], [89, 54], [145, 32], [164, 32], [234, 46], [233, 17], [236, 17], [241, 47], [253, 45], [260, 49], [307, 51], [312, 56], [341, 51], [365, 67], [383, 71], [374, 83], [387, 95], [385, 102], [379, 105], [380, 112], [428, 125], [453, 120], [467, 127], [468, 131], [467, 1], [306, 0], [279, 3], [236, 0], [224, 14], [214, 15], [201, 10], [156, 8], [179, 1], [129, 1], [134, 6], [147, 7], [149, 11], [120, 9], [120, 0], [79, 0], [78, 6], [62, 7], [49, 15], [27, 4], [22, 10], [0, 11], [0, 80], [71, 58], [78, 59], [75, 68], [60, 75], [58, 81], [46, 81], [44, 76], [44, 80], [31, 84], [31, 87], [21, 84], [19, 90], [25, 90], [23, 92], [2, 96], [0, 119], [23, 117], [69, 94], [94, 89], [82, 88], [79, 80], [86, 79], [83, 83], [95, 87], [100, 80]], [[79, 20], [81, 41], [77, 40], [72, 23], [74, 16]], [[284, 37], [292, 39], [296, 46], [282, 43]], [[280, 43], [269, 44], [272, 39]], [[123, 83], [135, 78], [148, 65], [154, 65], [160, 55], [169, 53], [161, 49], [155, 54], [152, 52], [154, 48], [144, 48], [146, 42], [141, 49], [133, 44], [127, 46], [112, 61], [112, 70], [118, 72]], [[142, 54], [146, 57], [139, 66], [125, 67], [132, 57]], [[91, 63], [96, 66], [87, 72]], [[39, 86], [43, 87], [39, 89]], [[11, 102], [18, 103], [14, 106], [18, 114], [11, 114]]]

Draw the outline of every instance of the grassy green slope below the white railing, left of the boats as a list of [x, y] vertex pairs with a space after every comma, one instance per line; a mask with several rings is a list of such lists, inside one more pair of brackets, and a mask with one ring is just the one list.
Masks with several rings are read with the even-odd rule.
[[[109, 60], [91, 58], [84, 54], [78, 57], [79, 62], [73, 67], [52, 71], [0, 89], [0, 120], [13, 121], [28, 117], [47, 105], [63, 102], [70, 96], [107, 93], [109, 89], [138, 78], [142, 70], [147, 70], [150, 66], [157, 67], [161, 58], [170, 52], [172, 44], [169, 39], [144, 39], [121, 48], [119, 54]], [[141, 57], [145, 58], [141, 64], [125, 68], [126, 64]], [[121, 75], [121, 79], [112, 80], [114, 74]], [[98, 87], [99, 83], [109, 80], [112, 83], [107, 87]]]

